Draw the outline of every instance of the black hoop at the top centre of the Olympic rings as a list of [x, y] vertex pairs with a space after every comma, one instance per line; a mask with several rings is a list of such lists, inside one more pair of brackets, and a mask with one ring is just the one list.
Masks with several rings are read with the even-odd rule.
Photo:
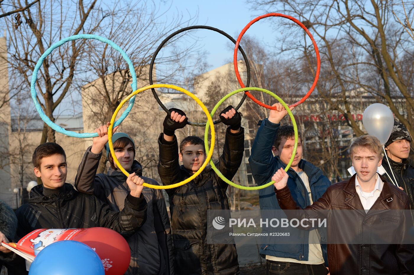
[[[229, 38], [231, 40], [231, 42], [233, 42], [234, 44], [236, 44], [236, 40], [234, 40], [233, 37], [231, 37], [229, 34], [225, 33], [224, 31], [219, 30], [218, 28], [214, 28], [214, 27], [210, 27], [210, 26], [189, 26], [189, 27], [185, 27], [182, 28], [176, 32], [171, 33], [167, 38], [165, 38], [161, 44], [158, 46], [158, 48], [156, 49], [156, 51], [154, 52], [154, 55], [152, 56], [152, 60], [151, 63], [149, 64], [149, 84], [154, 84], [154, 82], [152, 81], [152, 71], [154, 69], [154, 62], [155, 62], [155, 58], [158, 55], [159, 51], [161, 50], [161, 48], [168, 42], [168, 40], [170, 40], [171, 38], [173, 38], [174, 36], [176, 36], [179, 33], [182, 33], [184, 31], [189, 31], [189, 30], [194, 30], [194, 29], [206, 29], [206, 30], [210, 30], [210, 31], [215, 31], [217, 33], [220, 33], [224, 36], [226, 36], [227, 38]], [[244, 59], [244, 63], [246, 64], [246, 72], [247, 72], [247, 82], [246, 85], [250, 85], [250, 65], [249, 65], [249, 61], [247, 59], [246, 54], [244, 53], [243, 49], [240, 46], [237, 46], [237, 48], [240, 50], [241, 55], [243, 55], [243, 59]], [[240, 81], [239, 81], [240, 82]], [[241, 82], [241, 87], [244, 88], [246, 87], [243, 82]], [[168, 109], [164, 106], [164, 104], [161, 102], [161, 100], [159, 99], [158, 95], [156, 94], [155, 90], [152, 89], [152, 94], [155, 97], [155, 100], [158, 102], [159, 106], [164, 109], [164, 111], [167, 114], [171, 114], [170, 111], [168, 111]], [[246, 95], [243, 95], [240, 103], [236, 106], [236, 111], [241, 107], [241, 105], [243, 104], [244, 100], [246, 99]], [[221, 119], [214, 121], [214, 124], [220, 123]], [[206, 123], [197, 123], [197, 122], [191, 122], [191, 121], [187, 121], [187, 124], [191, 125], [191, 126], [206, 126]]]

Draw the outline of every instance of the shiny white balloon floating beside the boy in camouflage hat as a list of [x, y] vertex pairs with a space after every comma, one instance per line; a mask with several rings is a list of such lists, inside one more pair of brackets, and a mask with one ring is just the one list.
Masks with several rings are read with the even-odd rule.
[[368, 134], [377, 137], [384, 145], [394, 127], [394, 115], [390, 108], [384, 104], [374, 103], [363, 112], [362, 124]]

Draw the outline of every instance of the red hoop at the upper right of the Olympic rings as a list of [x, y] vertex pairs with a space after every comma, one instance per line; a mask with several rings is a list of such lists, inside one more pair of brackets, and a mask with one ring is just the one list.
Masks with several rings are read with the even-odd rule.
[[[237, 47], [240, 44], [240, 40], [243, 37], [244, 33], [246, 33], [246, 31], [248, 30], [248, 28], [250, 28], [251, 25], [253, 25], [255, 22], [259, 21], [260, 19], [266, 18], [266, 17], [284, 17], [287, 18], [291, 21], [294, 21], [296, 24], [298, 24], [299, 26], [301, 26], [303, 28], [303, 30], [306, 31], [306, 33], [308, 34], [310, 40], [312, 40], [313, 43], [313, 47], [315, 48], [315, 53], [316, 53], [316, 74], [315, 74], [315, 80], [313, 81], [312, 87], [310, 87], [310, 90], [306, 93], [306, 95], [299, 100], [298, 102], [290, 105], [290, 107], [296, 107], [299, 104], [303, 103], [309, 96], [310, 94], [313, 92], [313, 90], [316, 87], [316, 83], [318, 83], [318, 79], [319, 79], [319, 72], [320, 72], [320, 56], [319, 56], [319, 50], [318, 50], [318, 45], [316, 45], [315, 39], [313, 38], [312, 34], [310, 33], [310, 31], [308, 30], [308, 28], [305, 27], [305, 25], [303, 25], [301, 23], [301, 21], [299, 21], [298, 19], [291, 17], [289, 15], [285, 15], [285, 14], [281, 14], [281, 13], [268, 13], [268, 14], [264, 14], [261, 15], [259, 17], [256, 17], [255, 19], [253, 19], [252, 21], [250, 21], [249, 24], [246, 25], [246, 27], [243, 28], [243, 30], [241, 31], [241, 33], [239, 34], [238, 38], [237, 38], [237, 42], [236, 42], [236, 46], [234, 47], [234, 54], [233, 54], [233, 64], [234, 64], [234, 70], [236, 71], [236, 77], [238, 80], [238, 83], [240, 83], [241, 87], [244, 88], [245, 86], [243, 85], [243, 82], [241, 81], [240, 78], [240, 73], [238, 72], [238, 66], [237, 66]], [[252, 94], [250, 94], [250, 92], [246, 91], [246, 95], [253, 100], [255, 103], [259, 104], [262, 107], [265, 107], [267, 109], [272, 109], [274, 110], [274, 107], [266, 105], [263, 102], [260, 102], [259, 100], [257, 100], [255, 97], [253, 97]]]

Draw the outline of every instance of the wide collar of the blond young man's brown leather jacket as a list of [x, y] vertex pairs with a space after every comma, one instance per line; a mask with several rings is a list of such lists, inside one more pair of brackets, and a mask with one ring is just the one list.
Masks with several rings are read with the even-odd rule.
[[[390, 210], [390, 207], [388, 206], [388, 202], [392, 201], [392, 192], [390, 190], [390, 186], [387, 180], [383, 178], [383, 176], [379, 174], [378, 176], [384, 182], [383, 190], [381, 191], [380, 196], [378, 197], [377, 201], [373, 204], [371, 209], [368, 211], [367, 215], [370, 214], [373, 210]], [[365, 216], [366, 213], [363, 210], [361, 200], [359, 199], [358, 194], [356, 194], [355, 178], [356, 178], [356, 174], [354, 174], [348, 180], [347, 184], [344, 187], [344, 191], [347, 192], [347, 196], [345, 197], [344, 204], [351, 207], [354, 210], [359, 210], [359, 212], [363, 216]]]

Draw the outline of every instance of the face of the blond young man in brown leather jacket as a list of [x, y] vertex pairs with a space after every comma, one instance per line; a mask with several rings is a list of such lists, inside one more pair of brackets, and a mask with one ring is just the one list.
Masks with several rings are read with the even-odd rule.
[[366, 147], [356, 147], [354, 152], [351, 152], [351, 161], [358, 176], [358, 181], [367, 183], [375, 177], [382, 159], [377, 153]]

